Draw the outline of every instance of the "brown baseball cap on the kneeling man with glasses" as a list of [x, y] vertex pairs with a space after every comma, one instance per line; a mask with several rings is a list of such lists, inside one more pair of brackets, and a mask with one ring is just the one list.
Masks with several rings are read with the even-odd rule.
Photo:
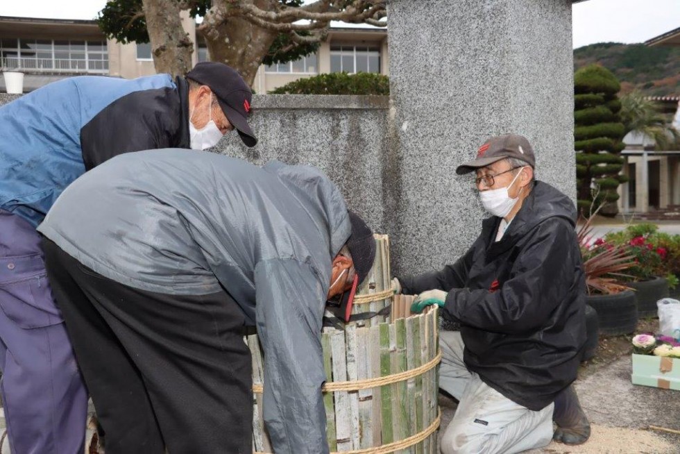
[[477, 158], [463, 165], [459, 165], [456, 173], [459, 175], [469, 174], [482, 167], [493, 164], [505, 158], [516, 158], [527, 162], [535, 167], [536, 158], [534, 149], [529, 144], [527, 137], [518, 134], [504, 134], [491, 137], [477, 150]]

